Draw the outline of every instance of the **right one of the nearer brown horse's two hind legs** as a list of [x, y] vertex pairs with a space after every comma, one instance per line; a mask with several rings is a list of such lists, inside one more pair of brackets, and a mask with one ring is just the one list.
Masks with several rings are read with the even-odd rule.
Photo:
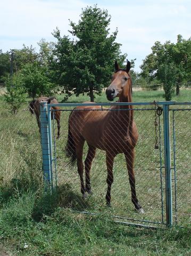
[[96, 148], [88, 145], [88, 154], [85, 160], [85, 172], [86, 172], [86, 191], [88, 194], [92, 194], [92, 189], [90, 185], [90, 169], [92, 167], [92, 161], [95, 157]]

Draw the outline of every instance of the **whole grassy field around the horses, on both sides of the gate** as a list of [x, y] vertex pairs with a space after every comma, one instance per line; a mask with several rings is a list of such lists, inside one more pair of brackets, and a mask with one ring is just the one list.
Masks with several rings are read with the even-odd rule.
[[[163, 101], [162, 94], [162, 91], [137, 91], [133, 100]], [[63, 96], [56, 98], [61, 102]], [[190, 101], [190, 98], [191, 90], [182, 90], [173, 100]], [[86, 100], [89, 100], [86, 95], [80, 95], [68, 102]], [[105, 102], [104, 93], [96, 96], [95, 101]], [[137, 195], [145, 210], [144, 216], [140, 216], [130, 202], [126, 165], [121, 155], [114, 163], [112, 207], [105, 206], [106, 167], [101, 151], [97, 152], [92, 169], [94, 195], [86, 202], [81, 199], [77, 169], [71, 170], [64, 158], [70, 111], [62, 113], [61, 138], [56, 140], [59, 188], [56, 195], [45, 195], [36, 119], [30, 116], [28, 103], [13, 116], [0, 96], [0, 255], [190, 255], [189, 113], [175, 112], [178, 221], [184, 228], [147, 230], [119, 225], [112, 215], [161, 221], [160, 161], [159, 150], [154, 150], [153, 110], [135, 111], [139, 131], [135, 163]], [[164, 178], [162, 181], [164, 191]]]

